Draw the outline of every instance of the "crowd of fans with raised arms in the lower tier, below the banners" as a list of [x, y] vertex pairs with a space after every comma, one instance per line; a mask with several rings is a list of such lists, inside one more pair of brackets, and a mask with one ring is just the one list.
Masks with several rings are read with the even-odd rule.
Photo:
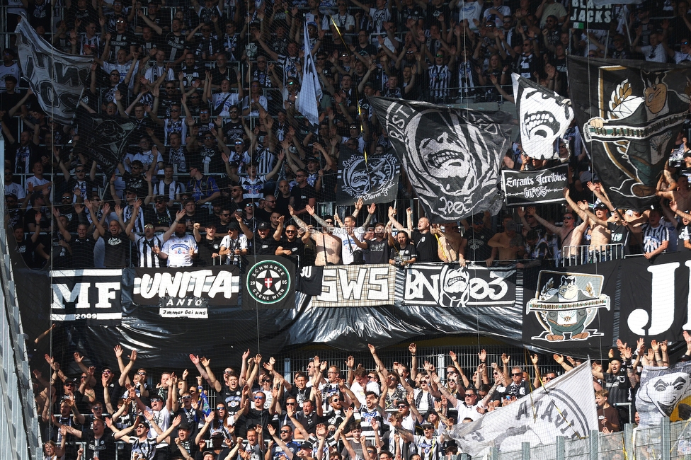
[[[680, 361], [691, 360], [691, 335], [684, 337], [687, 351]], [[315, 356], [292, 382], [273, 357], [264, 362], [250, 350], [239, 367], [215, 371], [207, 358], [190, 355], [198, 375], [184, 369], [161, 372], [160, 378], [140, 367], [136, 350], [126, 356], [120, 345], [114, 348], [118, 366], [104, 366], [100, 374], [79, 352], [74, 364], [63, 366], [45, 355], [50, 376], [38, 368], [33, 375], [42, 432], [50, 439], [46, 458], [113, 459], [121, 440], [126, 445], [119, 458], [131, 452], [132, 459], [436, 460], [462, 453], [450, 435], [455, 425], [549, 387], [562, 370], [582, 362], [554, 355], [556, 364], [541, 369], [539, 356], [529, 354], [524, 368], [506, 353], [489, 362], [481, 350], [476, 367], [463, 369], [459, 355], [450, 352], [440, 372], [418, 362], [414, 343], [409, 363], [388, 367], [369, 348], [373, 369], [355, 365], [353, 356], [345, 368]], [[590, 391], [600, 431], [622, 430], [629, 414], [637, 422], [641, 370], [669, 365], [667, 342], [653, 340], [646, 350], [642, 338], [633, 350], [617, 341], [608, 360], [593, 362]], [[62, 369], [80, 372], [72, 378]]]

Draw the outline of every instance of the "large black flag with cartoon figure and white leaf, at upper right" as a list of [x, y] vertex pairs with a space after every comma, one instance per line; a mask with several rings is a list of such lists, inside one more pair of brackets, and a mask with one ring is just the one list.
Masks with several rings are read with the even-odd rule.
[[569, 57], [571, 104], [616, 207], [658, 201], [656, 184], [689, 113], [689, 67]]

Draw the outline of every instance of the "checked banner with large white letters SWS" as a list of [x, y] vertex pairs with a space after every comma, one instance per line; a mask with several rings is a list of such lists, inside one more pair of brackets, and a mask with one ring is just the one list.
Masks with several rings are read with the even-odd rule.
[[321, 268], [321, 294], [312, 306], [381, 306], [394, 304], [393, 265], [343, 265]]

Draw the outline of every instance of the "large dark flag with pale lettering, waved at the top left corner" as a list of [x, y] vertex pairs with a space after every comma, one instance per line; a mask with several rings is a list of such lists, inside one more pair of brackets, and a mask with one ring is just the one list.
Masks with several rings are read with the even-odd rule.
[[16, 37], [22, 75], [41, 108], [56, 122], [70, 125], [93, 59], [59, 52], [25, 16], [17, 25]]

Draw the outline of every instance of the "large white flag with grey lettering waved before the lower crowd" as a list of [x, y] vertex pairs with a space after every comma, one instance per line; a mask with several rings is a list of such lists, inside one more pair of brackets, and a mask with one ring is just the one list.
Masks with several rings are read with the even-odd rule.
[[520, 458], [522, 442], [530, 442], [530, 447], [554, 444], [557, 436], [581, 439], [566, 442], [566, 456], [576, 454], [588, 448], [583, 438], [590, 430], [598, 430], [591, 372], [590, 362], [584, 362], [508, 406], [455, 425], [450, 435], [461, 452], [474, 458], [487, 454], [490, 447], [502, 454], [518, 451]]

